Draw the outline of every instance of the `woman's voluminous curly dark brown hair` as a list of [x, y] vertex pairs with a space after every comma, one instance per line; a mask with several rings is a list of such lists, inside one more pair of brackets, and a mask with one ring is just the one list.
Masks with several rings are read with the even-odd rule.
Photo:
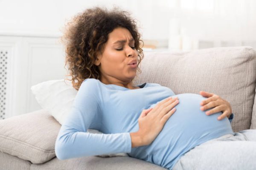
[[66, 52], [64, 67], [68, 65], [69, 70], [65, 77], [71, 76], [71, 79], [65, 80], [72, 80], [73, 88], [79, 90], [84, 79], [101, 78], [99, 68], [94, 64], [96, 54], [102, 54], [108, 34], [117, 27], [128, 29], [134, 38], [134, 47], [138, 53], [137, 70], [141, 73], [139, 64], [144, 57], [144, 43], [140, 40], [136, 21], [130, 17], [128, 11], [122, 11], [119, 7], [108, 11], [105, 7], [96, 6], [74, 16], [67, 23], [61, 37]]

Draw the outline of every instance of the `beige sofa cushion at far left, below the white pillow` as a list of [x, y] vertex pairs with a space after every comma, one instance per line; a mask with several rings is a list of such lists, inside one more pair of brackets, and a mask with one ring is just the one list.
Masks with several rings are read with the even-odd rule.
[[32, 163], [44, 163], [55, 157], [60, 127], [45, 110], [0, 120], [0, 151]]

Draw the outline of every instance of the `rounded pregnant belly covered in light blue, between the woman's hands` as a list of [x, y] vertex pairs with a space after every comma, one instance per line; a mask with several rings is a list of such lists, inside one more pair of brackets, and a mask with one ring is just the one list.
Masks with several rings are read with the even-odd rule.
[[[180, 102], [175, 106], [175, 113], [168, 119], [157, 138], [148, 146], [132, 150], [131, 155], [169, 167], [193, 147], [233, 133], [227, 118], [217, 119], [222, 112], [208, 116], [205, 112], [210, 109], [201, 111], [200, 103], [207, 99], [206, 97], [189, 93], [175, 96]], [[154, 108], [156, 104], [150, 108]]]

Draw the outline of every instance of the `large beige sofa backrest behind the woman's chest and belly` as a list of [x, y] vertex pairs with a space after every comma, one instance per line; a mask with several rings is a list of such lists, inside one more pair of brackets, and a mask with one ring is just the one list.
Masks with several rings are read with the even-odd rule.
[[177, 94], [207, 91], [230, 102], [234, 132], [256, 128], [256, 51], [248, 46], [144, 52], [135, 84], [158, 83]]

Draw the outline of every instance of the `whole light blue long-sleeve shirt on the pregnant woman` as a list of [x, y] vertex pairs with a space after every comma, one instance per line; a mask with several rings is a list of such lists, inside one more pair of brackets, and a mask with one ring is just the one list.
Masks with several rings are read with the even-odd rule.
[[[55, 143], [58, 159], [128, 153], [129, 156], [172, 169], [180, 156], [193, 147], [232, 133], [230, 121], [207, 116], [201, 111], [198, 94], [178, 94], [156, 83], [137, 85], [128, 89], [105, 85], [98, 79], [85, 79], [76, 94], [71, 112], [61, 126]], [[139, 129], [138, 118], [143, 109], [153, 108], [163, 99], [175, 96], [179, 104], [157, 138], [149, 145], [131, 147], [130, 132]], [[96, 129], [104, 134], [87, 133]]]

